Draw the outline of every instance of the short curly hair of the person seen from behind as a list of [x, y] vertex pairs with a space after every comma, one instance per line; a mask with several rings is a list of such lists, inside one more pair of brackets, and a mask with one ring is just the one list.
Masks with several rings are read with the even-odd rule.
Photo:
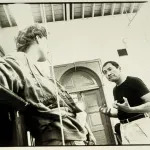
[[19, 31], [16, 38], [16, 47], [18, 52], [26, 52], [28, 47], [36, 41], [36, 37], [47, 38], [46, 29], [38, 24], [31, 25], [24, 30]]

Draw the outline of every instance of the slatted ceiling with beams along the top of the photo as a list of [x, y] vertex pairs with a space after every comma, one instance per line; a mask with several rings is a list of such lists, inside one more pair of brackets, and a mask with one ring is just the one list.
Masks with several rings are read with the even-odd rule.
[[[42, 23], [45, 21], [69, 21], [73, 19], [137, 13], [143, 3], [144, 1], [139, 1], [135, 3], [32, 3], [29, 5], [31, 7], [34, 22]], [[1, 28], [17, 26], [8, 5], [9, 4], [0, 4]]]

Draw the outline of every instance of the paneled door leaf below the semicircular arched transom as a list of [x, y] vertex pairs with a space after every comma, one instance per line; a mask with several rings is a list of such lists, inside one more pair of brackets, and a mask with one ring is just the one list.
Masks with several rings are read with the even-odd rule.
[[108, 144], [98, 107], [101, 102], [99, 90], [83, 92], [82, 101], [85, 105], [85, 111], [87, 112], [87, 123], [96, 138], [97, 145]]

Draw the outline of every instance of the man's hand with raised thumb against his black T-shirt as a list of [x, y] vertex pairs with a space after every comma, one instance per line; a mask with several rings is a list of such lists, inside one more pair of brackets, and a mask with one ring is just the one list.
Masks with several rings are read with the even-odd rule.
[[124, 112], [131, 113], [132, 109], [128, 103], [127, 98], [123, 97], [123, 99], [124, 99], [124, 103], [120, 104], [120, 103], [117, 103], [117, 101], [115, 101], [113, 107], [116, 109], [120, 109]]

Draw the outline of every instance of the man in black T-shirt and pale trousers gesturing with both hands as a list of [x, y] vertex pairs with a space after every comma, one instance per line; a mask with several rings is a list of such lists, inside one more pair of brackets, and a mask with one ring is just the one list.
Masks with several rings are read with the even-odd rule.
[[115, 109], [101, 106], [100, 112], [120, 120], [122, 144], [150, 144], [149, 89], [141, 79], [123, 75], [114, 61], [106, 62], [102, 71], [116, 84], [113, 89]]

